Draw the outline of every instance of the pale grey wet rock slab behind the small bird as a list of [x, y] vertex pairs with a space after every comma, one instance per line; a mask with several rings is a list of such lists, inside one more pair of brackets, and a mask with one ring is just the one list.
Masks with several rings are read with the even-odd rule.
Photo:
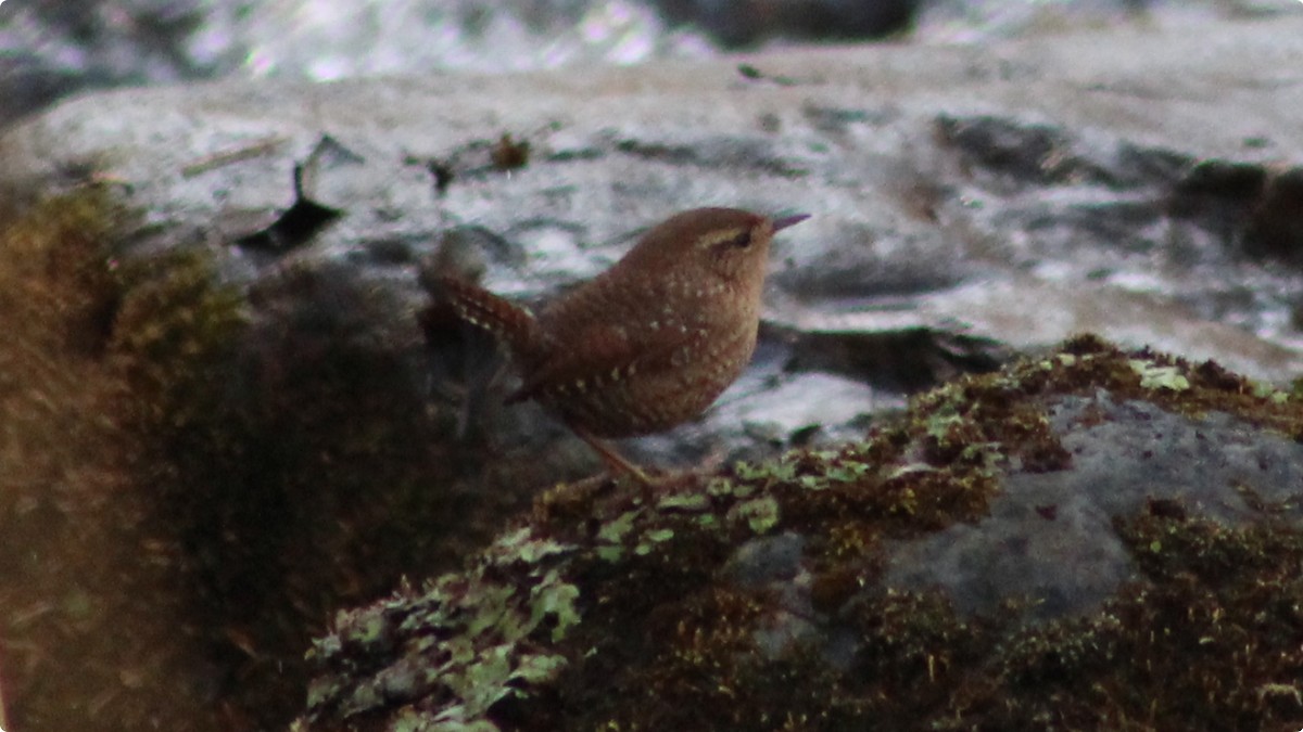
[[[766, 332], [799, 337], [769, 339], [756, 369], [779, 378], [744, 380], [748, 399], [731, 392], [680, 448], [633, 447], [691, 462], [704, 442], [748, 449], [734, 405], [818, 371], [790, 371], [813, 333], [885, 382], [877, 405], [952, 373], [936, 365], [956, 337], [960, 370], [1091, 330], [1291, 378], [1299, 141], [1280, 120], [1299, 90], [1233, 52], [1294, 53], [1291, 23], [1224, 23], [1220, 51], [1197, 53], [1153, 30], [1109, 35], [1109, 55], [1089, 35], [792, 52], [758, 77], [714, 63], [124, 91], [16, 129], [3, 152], [10, 181], [90, 165], [122, 184], [149, 228], [120, 255], [208, 246], [261, 290], [283, 268], [391, 289], [404, 306], [375, 314], [380, 333], [416, 328], [431, 258], [537, 301], [678, 210], [812, 212], [774, 254]], [[924, 335], [899, 341], [923, 365], [909, 378], [853, 356], [903, 332]]]

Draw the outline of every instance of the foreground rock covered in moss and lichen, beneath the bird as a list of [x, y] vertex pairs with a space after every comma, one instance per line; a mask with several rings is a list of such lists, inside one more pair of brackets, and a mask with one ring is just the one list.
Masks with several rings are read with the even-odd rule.
[[1300, 438], [1296, 397], [1081, 337], [866, 443], [562, 486], [341, 612], [293, 728], [1286, 728]]

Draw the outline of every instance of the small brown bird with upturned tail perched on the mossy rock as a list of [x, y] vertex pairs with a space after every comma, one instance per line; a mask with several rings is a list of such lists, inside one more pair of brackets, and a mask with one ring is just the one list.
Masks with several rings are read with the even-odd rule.
[[439, 283], [464, 320], [507, 344], [524, 382], [508, 404], [538, 401], [611, 468], [650, 483], [599, 438], [687, 422], [741, 374], [756, 348], [770, 240], [807, 218], [678, 214], [537, 315], [473, 284]]

